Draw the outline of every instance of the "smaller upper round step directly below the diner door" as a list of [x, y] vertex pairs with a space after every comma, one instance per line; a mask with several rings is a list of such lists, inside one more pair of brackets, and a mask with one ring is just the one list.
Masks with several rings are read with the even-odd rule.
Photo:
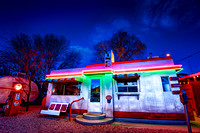
[[84, 113], [83, 118], [87, 120], [101, 120], [106, 118], [106, 114], [100, 113]]

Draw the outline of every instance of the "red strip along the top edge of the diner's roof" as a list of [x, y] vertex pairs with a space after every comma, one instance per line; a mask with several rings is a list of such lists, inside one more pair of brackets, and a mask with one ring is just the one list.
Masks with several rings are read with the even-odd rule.
[[[169, 59], [172, 59], [172, 57], [160, 57], [160, 58], [151, 58], [151, 59], [141, 59], [141, 60], [132, 60], [132, 61], [113, 62], [112, 65], [136, 63], [136, 62], [146, 62], [146, 61], [169, 60]], [[97, 67], [97, 66], [105, 66], [105, 63], [87, 65], [86, 67]]]

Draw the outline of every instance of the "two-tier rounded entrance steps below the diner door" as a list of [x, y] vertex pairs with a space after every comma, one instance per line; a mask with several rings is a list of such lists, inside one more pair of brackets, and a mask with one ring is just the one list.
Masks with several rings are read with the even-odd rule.
[[84, 113], [76, 116], [76, 121], [83, 125], [103, 125], [113, 122], [113, 118], [106, 118], [105, 114], [100, 113]]

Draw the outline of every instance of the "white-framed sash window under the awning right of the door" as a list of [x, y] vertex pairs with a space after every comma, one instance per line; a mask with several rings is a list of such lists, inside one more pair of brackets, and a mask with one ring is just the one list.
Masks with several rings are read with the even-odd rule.
[[118, 92], [138, 92], [137, 79], [118, 80]]

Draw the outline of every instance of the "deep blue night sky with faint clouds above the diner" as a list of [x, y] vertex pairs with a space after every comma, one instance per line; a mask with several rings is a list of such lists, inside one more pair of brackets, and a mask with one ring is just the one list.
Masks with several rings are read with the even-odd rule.
[[[147, 46], [147, 53], [170, 53], [182, 72], [200, 72], [200, 0], [6, 0], [0, 2], [0, 44], [9, 34], [64, 35], [88, 64], [93, 45], [124, 29]], [[90, 62], [91, 63], [91, 62]]]

